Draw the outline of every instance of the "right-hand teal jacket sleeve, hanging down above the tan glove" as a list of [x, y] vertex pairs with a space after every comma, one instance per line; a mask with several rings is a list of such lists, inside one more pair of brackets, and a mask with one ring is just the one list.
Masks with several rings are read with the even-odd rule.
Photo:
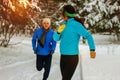
[[94, 43], [94, 39], [93, 39], [91, 33], [87, 29], [85, 29], [84, 26], [82, 26], [82, 24], [79, 24], [79, 26], [77, 27], [76, 30], [79, 35], [81, 35], [87, 39], [89, 49], [95, 50], [95, 43]]

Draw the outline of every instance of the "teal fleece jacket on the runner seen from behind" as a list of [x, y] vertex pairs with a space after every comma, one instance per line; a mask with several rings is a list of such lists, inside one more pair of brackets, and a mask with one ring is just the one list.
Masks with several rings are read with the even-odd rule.
[[57, 32], [53, 35], [55, 41], [60, 41], [60, 52], [63, 55], [76, 55], [79, 54], [79, 41], [83, 36], [87, 39], [90, 50], [95, 50], [95, 44], [93, 37], [84, 26], [74, 20], [74, 18], [68, 19], [65, 29], [61, 34]]

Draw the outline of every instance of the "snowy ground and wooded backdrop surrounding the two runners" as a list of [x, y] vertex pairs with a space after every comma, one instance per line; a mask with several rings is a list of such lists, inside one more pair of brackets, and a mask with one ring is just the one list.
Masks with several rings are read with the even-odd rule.
[[[96, 58], [90, 59], [85, 39], [80, 42], [79, 64], [72, 80], [120, 80], [120, 0], [0, 0], [0, 80], [41, 80], [32, 51], [34, 30], [49, 17], [51, 29], [62, 22], [66, 4], [92, 33]], [[59, 42], [48, 80], [61, 80]]]

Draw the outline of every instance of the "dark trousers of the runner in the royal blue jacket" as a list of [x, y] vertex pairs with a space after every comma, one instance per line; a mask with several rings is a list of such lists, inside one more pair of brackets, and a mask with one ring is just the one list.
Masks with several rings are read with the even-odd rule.
[[51, 60], [52, 60], [52, 55], [37, 55], [36, 58], [36, 68], [38, 71], [41, 71], [42, 68], [45, 69], [44, 75], [43, 75], [43, 80], [47, 80], [51, 68]]

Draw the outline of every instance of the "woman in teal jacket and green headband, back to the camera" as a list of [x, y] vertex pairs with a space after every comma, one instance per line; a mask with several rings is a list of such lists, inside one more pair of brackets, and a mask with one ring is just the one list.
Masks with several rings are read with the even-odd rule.
[[73, 6], [65, 5], [62, 16], [63, 25], [58, 28], [53, 38], [55, 41], [60, 40], [62, 80], [71, 80], [79, 60], [80, 37], [83, 36], [88, 41], [91, 58], [95, 58], [95, 44], [90, 32], [75, 18]]

